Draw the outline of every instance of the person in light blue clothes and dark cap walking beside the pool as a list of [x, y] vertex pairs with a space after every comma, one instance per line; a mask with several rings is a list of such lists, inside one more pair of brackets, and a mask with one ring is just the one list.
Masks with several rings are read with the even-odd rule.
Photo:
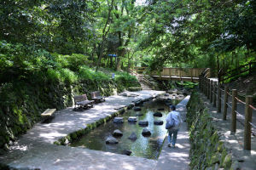
[[166, 116], [166, 122], [174, 122], [174, 127], [168, 129], [168, 147], [174, 147], [177, 140], [177, 131], [179, 130], [180, 124], [183, 122], [180, 113], [176, 111], [175, 105], [171, 105], [171, 111]]

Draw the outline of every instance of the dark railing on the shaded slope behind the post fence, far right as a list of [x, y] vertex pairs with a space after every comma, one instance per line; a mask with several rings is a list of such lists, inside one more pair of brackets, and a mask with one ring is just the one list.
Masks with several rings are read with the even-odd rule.
[[224, 69], [220, 69], [218, 71], [218, 82], [224, 83], [225, 80], [232, 78], [232, 77], [239, 76], [242, 73], [247, 72], [247, 71], [249, 74], [252, 74], [253, 71], [255, 70], [255, 68], [256, 68], [256, 62], [252, 61], [246, 65], [241, 65], [231, 71], [224, 71]]

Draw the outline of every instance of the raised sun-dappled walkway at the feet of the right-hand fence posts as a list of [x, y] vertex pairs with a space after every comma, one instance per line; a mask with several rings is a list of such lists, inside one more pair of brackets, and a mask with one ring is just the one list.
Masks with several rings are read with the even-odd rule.
[[[224, 97], [223, 97], [224, 98]], [[243, 150], [243, 135], [244, 135], [244, 126], [243, 120], [241, 118], [237, 119], [236, 122], [236, 133], [230, 133], [230, 108], [227, 112], [227, 120], [223, 121], [223, 109], [224, 102], [222, 101], [222, 112], [218, 113], [217, 108], [212, 107], [212, 104], [209, 102], [209, 99], [204, 94], [201, 94], [201, 99], [205, 101], [205, 105], [208, 108], [208, 112], [212, 116], [212, 122], [214, 122], [214, 127], [218, 129], [220, 139], [224, 142], [225, 147], [232, 153], [233, 161], [236, 161], [236, 167], [239, 169], [255, 169], [256, 167], [256, 138], [251, 136], [252, 140], [252, 150]], [[229, 103], [230, 103], [229, 99]], [[217, 102], [218, 104], [218, 102]], [[244, 105], [238, 104], [237, 111], [244, 115]], [[256, 121], [256, 112], [253, 111], [253, 123]]]

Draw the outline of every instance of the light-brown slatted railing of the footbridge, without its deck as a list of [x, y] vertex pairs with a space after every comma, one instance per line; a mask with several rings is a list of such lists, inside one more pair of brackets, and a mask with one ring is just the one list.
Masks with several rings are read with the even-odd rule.
[[[139, 74], [160, 77], [199, 77], [206, 68], [164, 68], [162, 71], [148, 71], [148, 67], [134, 67]], [[210, 70], [208, 70], [210, 71]], [[210, 73], [207, 77], [210, 77]]]

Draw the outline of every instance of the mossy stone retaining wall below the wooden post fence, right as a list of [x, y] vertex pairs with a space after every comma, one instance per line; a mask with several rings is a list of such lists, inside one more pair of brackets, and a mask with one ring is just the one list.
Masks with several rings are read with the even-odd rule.
[[234, 169], [232, 156], [219, 140], [218, 131], [214, 129], [199, 94], [191, 95], [187, 108], [191, 169]]

